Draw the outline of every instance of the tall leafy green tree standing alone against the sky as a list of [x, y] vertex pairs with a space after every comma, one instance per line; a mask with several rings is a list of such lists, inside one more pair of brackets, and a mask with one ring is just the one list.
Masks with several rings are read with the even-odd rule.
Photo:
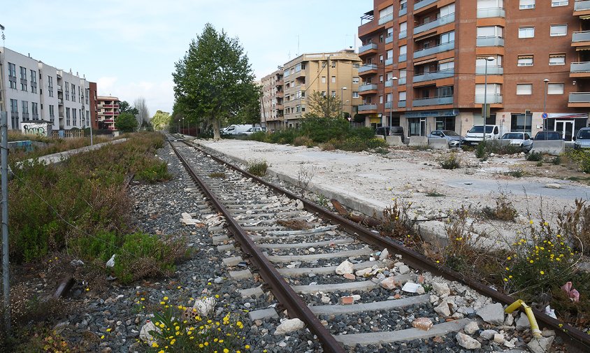
[[185, 56], [175, 63], [175, 106], [188, 122], [203, 119], [220, 138], [220, 122], [235, 117], [252, 101], [254, 74], [237, 38], [206, 24], [192, 40]]

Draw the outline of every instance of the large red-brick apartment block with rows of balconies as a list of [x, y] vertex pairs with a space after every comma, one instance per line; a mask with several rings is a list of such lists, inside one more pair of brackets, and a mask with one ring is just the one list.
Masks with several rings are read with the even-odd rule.
[[460, 6], [375, 0], [361, 16], [359, 113], [367, 124], [402, 126], [407, 136], [465, 134], [486, 116], [504, 131], [534, 135], [545, 126], [566, 141], [589, 124], [590, 1]]

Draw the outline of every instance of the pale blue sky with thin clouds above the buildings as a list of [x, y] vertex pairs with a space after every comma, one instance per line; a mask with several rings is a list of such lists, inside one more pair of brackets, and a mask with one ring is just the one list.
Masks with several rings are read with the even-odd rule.
[[[8, 5], [10, 2], [10, 6]], [[6, 48], [171, 112], [172, 73], [207, 22], [237, 37], [257, 79], [305, 52], [358, 48], [373, 0], [0, 0]]]

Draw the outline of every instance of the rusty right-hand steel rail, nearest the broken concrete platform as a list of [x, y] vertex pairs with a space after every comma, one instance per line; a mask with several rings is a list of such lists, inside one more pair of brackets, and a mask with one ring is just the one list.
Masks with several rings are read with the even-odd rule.
[[[182, 140], [182, 142], [191, 147], [201, 149], [200, 146], [197, 147], [196, 145], [188, 143], [187, 141]], [[354, 223], [349, 219], [346, 219], [340, 215], [335, 214], [334, 212], [331, 212], [330, 210], [326, 210], [326, 208], [322, 208], [321, 206], [318, 206], [315, 203], [302, 199], [296, 194], [289, 192], [289, 190], [287, 189], [283, 189], [282, 187], [273, 185], [271, 182], [267, 182], [266, 180], [259, 178], [256, 175], [253, 175], [252, 173], [244, 171], [238, 166], [235, 166], [227, 161], [224, 161], [219, 157], [213, 156], [210, 152], [203, 150], [201, 150], [201, 152], [208, 154], [211, 158], [215, 159], [215, 161], [219, 161], [220, 163], [229, 166], [229, 168], [232, 168], [235, 171], [243, 173], [243, 175], [246, 175], [247, 177], [252, 178], [257, 182], [260, 182], [262, 185], [266, 185], [266, 187], [269, 187], [275, 190], [276, 192], [285, 194], [287, 197], [289, 197], [289, 199], [296, 199], [303, 202], [303, 207], [305, 208], [305, 210], [308, 210], [309, 212], [315, 212], [318, 215], [320, 215], [320, 217], [329, 220], [330, 222], [335, 222], [336, 224], [342, 226], [343, 229], [349, 231], [351, 234], [357, 233], [357, 236], [366, 243], [369, 243], [370, 245], [375, 245], [375, 247], [379, 249], [387, 248], [387, 250], [390, 253], [401, 254], [405, 263], [412, 266], [413, 268], [422, 271], [429, 271], [434, 275], [440, 275], [443, 278], [446, 278], [447, 280], [463, 282], [464, 284], [468, 285], [468, 287], [475, 289], [475, 291], [484, 296], [489, 296], [498, 303], [510, 305], [516, 301], [516, 299], [512, 298], [512, 296], [508, 296], [499, 291], [496, 291], [495, 289], [492, 289], [491, 287], [481, 282], [477, 282], [476, 280], [467, 278], [465, 275], [457, 271], [454, 271], [452, 268], [449, 268], [441, 264], [436, 264], [431, 259], [425, 257], [422, 254], [419, 254], [418, 252], [415, 252], [414, 250], [409, 249], [408, 247], [400, 245], [391, 238], [385, 238], [384, 236], [380, 236], [379, 234], [373, 233], [373, 231], [370, 231], [364, 226]], [[545, 312], [542, 312], [537, 309], [533, 309], [533, 312], [538, 321], [545, 325], [545, 328], [554, 330], [556, 334], [559, 335], [565, 343], [568, 343], [572, 348], [577, 349], [577, 351], [568, 352], [590, 352], [590, 335], [580, 331], [579, 329], [576, 329], [574, 326], [571, 326], [570, 324], [562, 324], [561, 322], [559, 322], [559, 320], [549, 317], [548, 315], [545, 315]]]

